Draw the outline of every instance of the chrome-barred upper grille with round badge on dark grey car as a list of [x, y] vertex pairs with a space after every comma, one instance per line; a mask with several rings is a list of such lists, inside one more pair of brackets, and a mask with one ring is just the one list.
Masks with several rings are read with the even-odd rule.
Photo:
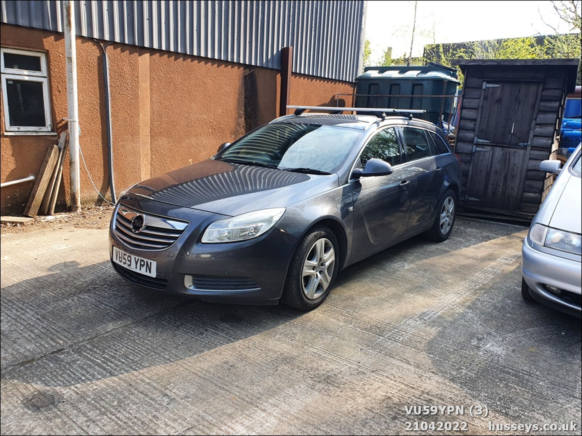
[[138, 250], [165, 250], [178, 240], [188, 223], [146, 214], [126, 206], [115, 212], [113, 232], [128, 247]]

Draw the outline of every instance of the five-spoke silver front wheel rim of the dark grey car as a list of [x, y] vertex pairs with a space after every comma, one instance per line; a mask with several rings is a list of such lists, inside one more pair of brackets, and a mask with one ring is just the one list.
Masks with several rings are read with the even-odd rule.
[[335, 250], [325, 237], [315, 241], [307, 251], [301, 273], [301, 288], [309, 300], [319, 298], [329, 287], [335, 266]]

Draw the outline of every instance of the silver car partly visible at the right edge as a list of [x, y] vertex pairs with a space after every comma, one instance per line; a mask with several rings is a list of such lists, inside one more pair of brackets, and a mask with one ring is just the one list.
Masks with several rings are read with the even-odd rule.
[[580, 145], [560, 170], [545, 160], [540, 170], [559, 173], [523, 242], [521, 295], [580, 318]]

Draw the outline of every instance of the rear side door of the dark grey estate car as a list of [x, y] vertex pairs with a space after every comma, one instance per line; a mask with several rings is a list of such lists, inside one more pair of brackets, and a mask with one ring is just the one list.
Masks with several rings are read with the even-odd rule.
[[441, 192], [443, 174], [442, 168], [437, 167], [434, 142], [425, 129], [402, 127], [402, 139], [406, 173], [412, 185], [408, 229], [414, 231], [431, 219]]

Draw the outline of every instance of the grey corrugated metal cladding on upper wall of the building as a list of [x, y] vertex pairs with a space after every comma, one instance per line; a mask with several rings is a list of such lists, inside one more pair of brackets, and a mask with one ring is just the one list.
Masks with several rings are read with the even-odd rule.
[[[76, 1], [77, 34], [336, 80], [357, 75], [364, 1]], [[2, 23], [62, 32], [62, 2], [2, 0]]]

